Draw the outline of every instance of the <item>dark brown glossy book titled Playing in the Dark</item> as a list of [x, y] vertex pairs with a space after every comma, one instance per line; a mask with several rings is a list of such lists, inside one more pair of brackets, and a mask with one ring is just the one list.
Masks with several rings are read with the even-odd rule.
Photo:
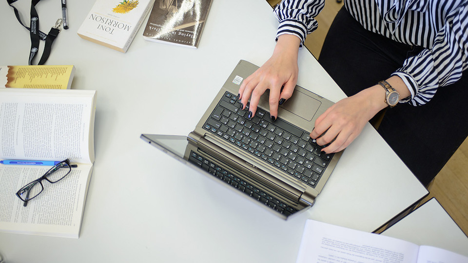
[[197, 48], [212, 2], [213, 0], [156, 0], [143, 38]]

